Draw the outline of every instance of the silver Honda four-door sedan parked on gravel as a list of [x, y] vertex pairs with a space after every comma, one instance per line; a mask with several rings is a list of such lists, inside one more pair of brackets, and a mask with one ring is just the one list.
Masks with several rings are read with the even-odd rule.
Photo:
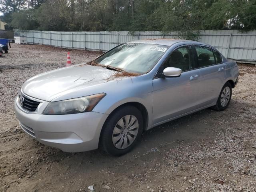
[[39, 74], [15, 99], [21, 128], [65, 152], [130, 151], [143, 130], [204, 108], [224, 110], [236, 62], [188, 40], [121, 44], [87, 64]]

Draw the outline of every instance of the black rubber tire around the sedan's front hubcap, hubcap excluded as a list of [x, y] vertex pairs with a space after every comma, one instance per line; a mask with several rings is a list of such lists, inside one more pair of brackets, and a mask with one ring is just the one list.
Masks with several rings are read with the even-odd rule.
[[[133, 115], [138, 120], [138, 134], [135, 137], [135, 140], [130, 146], [128, 146], [125, 149], [118, 149], [116, 146], [114, 146], [112, 141], [112, 134], [113, 130], [117, 124], [117, 122], [122, 119], [126, 115]], [[123, 106], [115, 110], [108, 119], [106, 120], [101, 134], [100, 134], [100, 143], [99, 148], [107, 152], [108, 154], [111, 154], [113, 156], [121, 156], [123, 154], [128, 153], [130, 150], [132, 150], [138, 141], [140, 140], [142, 131], [143, 131], [143, 117], [141, 112], [134, 106]]]

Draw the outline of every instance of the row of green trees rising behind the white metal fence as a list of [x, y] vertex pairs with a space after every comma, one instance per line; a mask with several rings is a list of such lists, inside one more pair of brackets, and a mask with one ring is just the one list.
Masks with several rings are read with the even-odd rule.
[[56, 31], [256, 29], [256, 0], [1, 0], [11, 28]]

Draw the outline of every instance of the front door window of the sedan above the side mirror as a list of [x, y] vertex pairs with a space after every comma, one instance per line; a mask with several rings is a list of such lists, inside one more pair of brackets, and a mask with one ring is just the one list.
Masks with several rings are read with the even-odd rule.
[[183, 71], [194, 68], [194, 58], [191, 46], [183, 46], [174, 50], [164, 63], [164, 68], [176, 67]]

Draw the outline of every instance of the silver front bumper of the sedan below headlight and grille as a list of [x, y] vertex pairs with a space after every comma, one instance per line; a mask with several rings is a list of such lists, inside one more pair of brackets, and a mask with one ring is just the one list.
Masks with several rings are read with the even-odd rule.
[[22, 109], [16, 97], [14, 109], [20, 127], [40, 143], [64, 152], [98, 148], [100, 132], [108, 114], [86, 112], [68, 115], [43, 115], [44, 102], [36, 112]]

